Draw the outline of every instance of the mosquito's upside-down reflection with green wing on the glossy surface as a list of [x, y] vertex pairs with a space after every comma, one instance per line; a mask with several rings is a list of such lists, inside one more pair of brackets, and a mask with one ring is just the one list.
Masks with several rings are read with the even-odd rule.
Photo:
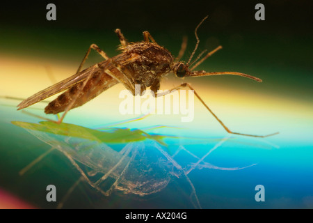
[[[145, 116], [130, 121], [141, 118], [145, 118]], [[124, 123], [130, 121], [125, 121]], [[190, 190], [188, 200], [193, 204], [193, 207], [201, 208], [195, 187], [188, 177], [188, 174], [193, 169], [238, 170], [246, 168], [223, 168], [204, 162], [204, 159], [211, 152], [227, 141], [227, 137], [218, 139], [218, 143], [213, 148], [202, 157], [198, 157], [184, 148], [183, 145], [180, 145], [175, 153], [170, 154], [164, 147], [166, 144], [162, 140], [170, 136], [149, 134], [143, 130], [130, 130], [128, 128], [93, 130], [79, 125], [67, 123], [57, 125], [54, 122], [47, 121], [41, 121], [40, 123], [13, 121], [12, 123], [24, 128], [51, 146], [48, 151], [42, 153], [42, 155], [19, 171], [19, 175], [24, 175], [26, 171], [29, 171], [45, 156], [56, 150], [63, 153], [75, 169], [79, 171], [81, 176], [67, 190], [63, 199], [58, 203], [58, 208], [63, 207], [70, 194], [83, 182], [88, 183], [88, 185], [104, 196], [110, 196], [114, 191], [144, 196], [160, 192], [173, 179], [182, 179], [182, 183], [186, 183], [188, 190]], [[150, 130], [160, 127], [165, 126], [152, 127]], [[152, 139], [151, 146], [153, 149], [147, 148], [150, 144], [144, 144], [143, 141], [145, 139]], [[213, 140], [216, 141], [216, 139]], [[116, 143], [126, 145], [118, 150], [114, 146], [110, 146], [110, 144]], [[189, 164], [188, 167], [182, 167], [175, 160], [175, 156], [180, 151], [186, 151], [198, 161]]]

